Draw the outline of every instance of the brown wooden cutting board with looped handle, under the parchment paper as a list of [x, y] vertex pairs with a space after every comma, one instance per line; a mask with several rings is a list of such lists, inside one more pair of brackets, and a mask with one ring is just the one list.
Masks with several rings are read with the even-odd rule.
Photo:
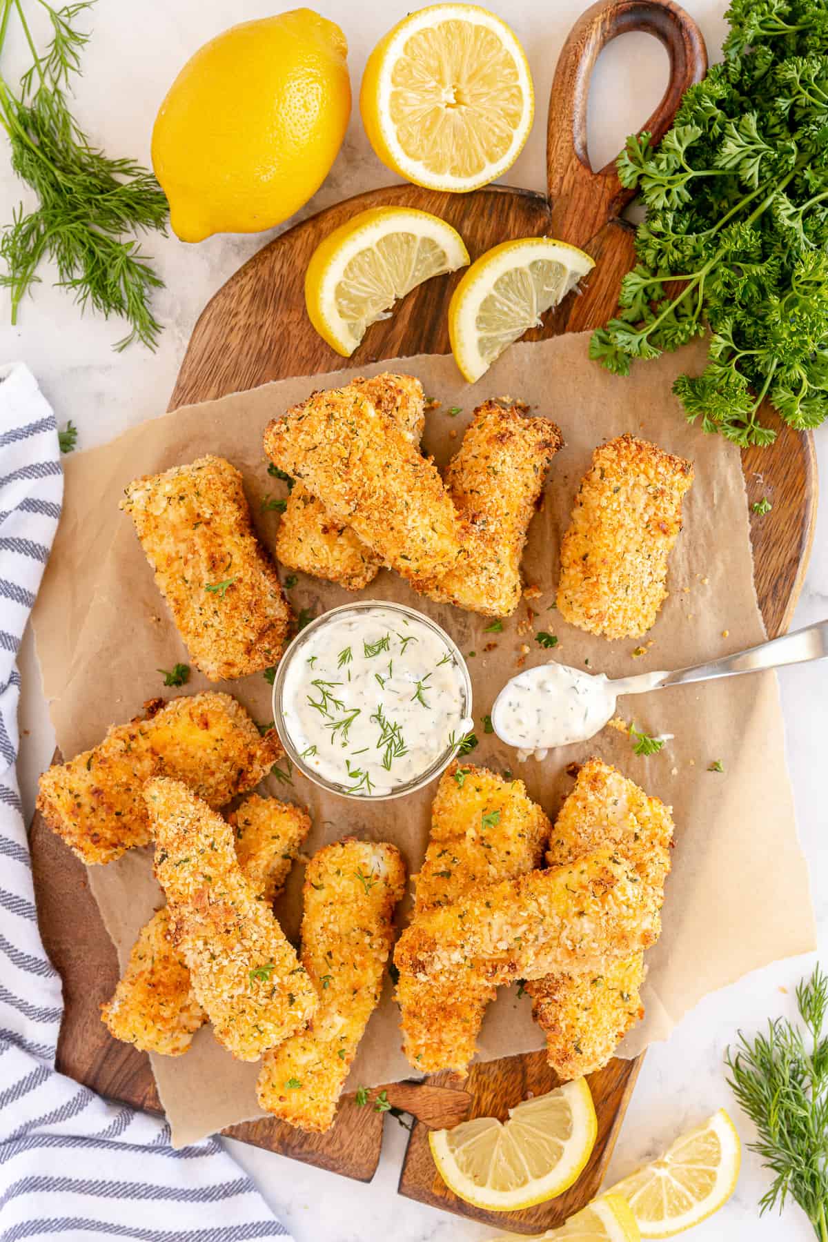
[[[549, 111], [549, 196], [500, 186], [451, 195], [400, 185], [362, 194], [304, 221], [254, 255], [207, 304], [194, 329], [170, 409], [269, 380], [338, 369], [343, 360], [314, 333], [305, 315], [304, 271], [314, 247], [331, 229], [372, 206], [405, 205], [442, 216], [459, 230], [472, 260], [511, 237], [550, 235], [582, 246], [596, 260], [586, 291], [567, 298], [549, 314], [544, 328], [529, 335], [544, 339], [602, 324], [614, 310], [621, 278], [633, 262], [633, 232], [618, 219], [632, 195], [621, 188], [614, 164], [600, 173], [588, 165], [586, 97], [601, 48], [633, 30], [654, 35], [669, 53], [667, 92], [643, 127], [660, 138], [683, 92], [705, 72], [701, 35], [669, 0], [600, 2], [575, 26], [555, 73]], [[389, 319], [369, 329], [353, 363], [448, 353], [447, 310], [457, 278], [430, 281], [408, 294]], [[771, 414], [767, 417], [773, 419]], [[765, 493], [773, 498], [772, 525], [754, 520], [751, 532], [756, 587], [768, 635], [787, 627], [796, 605], [817, 496], [811, 438], [778, 420], [777, 425], [780, 433], [772, 448], [751, 450], [742, 457], [750, 499]], [[31, 838], [43, 940], [65, 982], [60, 1067], [104, 1095], [158, 1110], [148, 1057], [113, 1041], [99, 1021], [99, 1004], [112, 994], [118, 971], [86, 872], [37, 817]], [[434, 1174], [427, 1130], [430, 1125], [452, 1125], [467, 1115], [505, 1117], [508, 1108], [529, 1090], [551, 1089], [556, 1079], [544, 1054], [474, 1066], [459, 1086], [448, 1074], [434, 1076], [425, 1084], [390, 1086], [389, 1102], [418, 1119], [402, 1169], [401, 1192], [516, 1232], [540, 1232], [559, 1223], [598, 1189], [639, 1064], [641, 1058], [616, 1059], [591, 1077], [598, 1140], [576, 1186], [551, 1203], [505, 1218], [469, 1207], [446, 1190]], [[326, 1135], [303, 1135], [274, 1119], [237, 1125], [227, 1133], [367, 1181], [379, 1163], [382, 1124], [381, 1113], [370, 1105], [358, 1108], [350, 1097]]]

